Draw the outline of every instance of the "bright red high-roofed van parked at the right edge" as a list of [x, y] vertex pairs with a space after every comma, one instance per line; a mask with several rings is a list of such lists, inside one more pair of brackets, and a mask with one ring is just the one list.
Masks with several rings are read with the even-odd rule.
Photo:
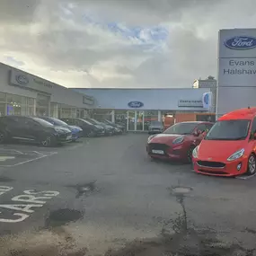
[[256, 173], [256, 108], [219, 118], [193, 151], [195, 172], [215, 176]]

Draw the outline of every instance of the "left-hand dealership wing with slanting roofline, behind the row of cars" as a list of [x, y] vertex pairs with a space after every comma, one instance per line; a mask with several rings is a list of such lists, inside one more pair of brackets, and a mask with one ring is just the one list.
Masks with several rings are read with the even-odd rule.
[[85, 117], [93, 97], [0, 63], [0, 115]]

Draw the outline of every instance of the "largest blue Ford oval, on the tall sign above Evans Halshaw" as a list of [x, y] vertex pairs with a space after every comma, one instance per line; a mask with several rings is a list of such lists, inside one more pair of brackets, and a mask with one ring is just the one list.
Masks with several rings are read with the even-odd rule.
[[256, 38], [234, 37], [225, 41], [225, 47], [229, 49], [252, 49], [256, 47]]

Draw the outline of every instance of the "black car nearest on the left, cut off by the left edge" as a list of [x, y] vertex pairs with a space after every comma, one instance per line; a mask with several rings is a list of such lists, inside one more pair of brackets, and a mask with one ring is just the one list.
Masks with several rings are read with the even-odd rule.
[[18, 140], [38, 143], [41, 146], [56, 146], [71, 141], [72, 134], [67, 128], [57, 128], [44, 119], [23, 116], [0, 118], [0, 142]]

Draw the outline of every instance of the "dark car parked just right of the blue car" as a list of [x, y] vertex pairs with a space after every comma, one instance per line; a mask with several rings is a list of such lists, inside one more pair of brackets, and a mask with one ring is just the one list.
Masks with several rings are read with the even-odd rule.
[[93, 125], [91, 122], [85, 119], [66, 118], [61, 120], [65, 121], [68, 125], [74, 125], [82, 128], [84, 137], [98, 137], [105, 135], [105, 130], [103, 128], [99, 128], [98, 126]]

